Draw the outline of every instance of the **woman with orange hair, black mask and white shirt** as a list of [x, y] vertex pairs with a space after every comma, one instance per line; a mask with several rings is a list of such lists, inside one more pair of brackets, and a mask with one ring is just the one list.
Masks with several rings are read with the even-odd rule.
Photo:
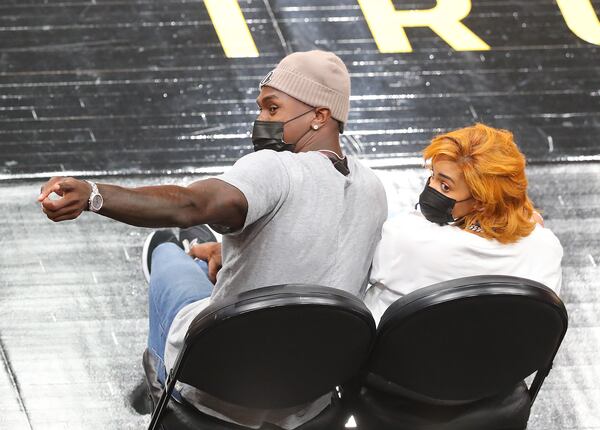
[[435, 137], [420, 212], [390, 219], [365, 301], [376, 320], [398, 298], [437, 282], [513, 275], [558, 292], [562, 246], [527, 196], [512, 133], [483, 124]]

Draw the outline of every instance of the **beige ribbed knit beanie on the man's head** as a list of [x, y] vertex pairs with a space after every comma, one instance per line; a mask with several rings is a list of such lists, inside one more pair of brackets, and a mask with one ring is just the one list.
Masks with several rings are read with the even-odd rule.
[[350, 109], [350, 75], [332, 52], [294, 52], [263, 78], [260, 87], [269, 86], [314, 107], [326, 107], [342, 123]]

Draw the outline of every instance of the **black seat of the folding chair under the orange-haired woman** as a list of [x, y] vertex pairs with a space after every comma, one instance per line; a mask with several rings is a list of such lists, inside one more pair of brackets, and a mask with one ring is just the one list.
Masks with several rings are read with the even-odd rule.
[[467, 405], [432, 405], [363, 387], [353, 405], [360, 430], [523, 430], [531, 398], [524, 382]]

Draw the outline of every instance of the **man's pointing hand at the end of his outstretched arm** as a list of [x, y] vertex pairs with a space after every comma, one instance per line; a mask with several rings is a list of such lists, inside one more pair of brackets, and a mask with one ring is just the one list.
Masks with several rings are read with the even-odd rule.
[[[50, 200], [52, 193], [61, 198]], [[54, 222], [75, 219], [87, 209], [92, 187], [85, 181], [75, 178], [55, 176], [50, 178], [41, 189], [38, 202], [42, 203], [42, 211]]]

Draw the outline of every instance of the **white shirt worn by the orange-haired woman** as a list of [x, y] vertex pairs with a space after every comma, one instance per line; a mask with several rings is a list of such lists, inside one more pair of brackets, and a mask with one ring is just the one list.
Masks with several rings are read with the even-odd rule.
[[502, 244], [415, 211], [384, 224], [365, 303], [379, 322], [388, 306], [412, 291], [477, 275], [532, 279], [558, 293], [562, 255], [558, 238], [539, 225], [518, 242]]

